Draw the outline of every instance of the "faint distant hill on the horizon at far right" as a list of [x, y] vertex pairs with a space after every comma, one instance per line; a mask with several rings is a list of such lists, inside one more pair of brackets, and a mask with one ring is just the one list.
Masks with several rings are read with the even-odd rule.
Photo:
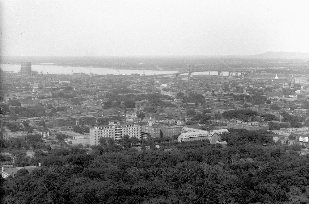
[[302, 52], [265, 52], [258, 55], [243, 56], [244, 58], [257, 59], [304, 59], [309, 58], [309, 53]]

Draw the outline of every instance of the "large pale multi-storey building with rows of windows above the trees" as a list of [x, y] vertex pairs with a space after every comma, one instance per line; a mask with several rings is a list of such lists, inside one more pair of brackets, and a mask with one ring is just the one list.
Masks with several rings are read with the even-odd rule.
[[140, 139], [141, 126], [135, 124], [120, 124], [120, 123], [110, 123], [105, 126], [95, 126], [89, 130], [89, 140], [90, 145], [98, 145], [99, 139], [104, 137], [111, 137], [115, 140], [119, 140], [123, 135], [129, 135], [129, 137], [136, 137]]

